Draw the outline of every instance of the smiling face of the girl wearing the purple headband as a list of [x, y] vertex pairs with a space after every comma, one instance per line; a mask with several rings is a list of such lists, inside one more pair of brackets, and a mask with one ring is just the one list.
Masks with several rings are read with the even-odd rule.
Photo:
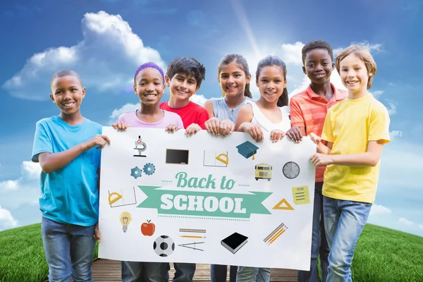
[[142, 104], [147, 106], [159, 104], [164, 92], [161, 73], [155, 68], [144, 68], [135, 78], [134, 90]]

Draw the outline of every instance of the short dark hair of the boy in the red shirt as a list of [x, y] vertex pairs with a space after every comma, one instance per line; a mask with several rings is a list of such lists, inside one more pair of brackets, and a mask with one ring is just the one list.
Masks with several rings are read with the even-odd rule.
[[206, 78], [206, 68], [196, 59], [189, 57], [176, 58], [169, 63], [166, 75], [172, 79], [176, 73], [194, 77], [197, 80], [197, 87], [200, 87], [202, 80]]

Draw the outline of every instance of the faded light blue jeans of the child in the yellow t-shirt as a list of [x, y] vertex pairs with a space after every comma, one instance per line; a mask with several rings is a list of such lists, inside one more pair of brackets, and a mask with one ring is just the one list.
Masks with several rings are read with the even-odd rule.
[[328, 282], [352, 281], [351, 262], [372, 204], [323, 198], [324, 228], [331, 247]]

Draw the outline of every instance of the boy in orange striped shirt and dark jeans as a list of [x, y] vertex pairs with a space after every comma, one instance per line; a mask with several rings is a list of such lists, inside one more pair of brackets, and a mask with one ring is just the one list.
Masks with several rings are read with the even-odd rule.
[[[329, 108], [341, 102], [348, 92], [331, 83], [334, 68], [331, 46], [321, 40], [314, 40], [302, 47], [302, 71], [311, 80], [306, 90], [295, 94], [290, 99], [290, 119], [292, 128], [286, 135], [295, 142], [302, 136], [314, 133], [321, 136], [324, 119]], [[328, 271], [329, 246], [326, 242], [323, 218], [323, 175], [325, 166], [316, 168], [314, 186], [314, 211], [312, 229], [312, 253], [309, 271], [298, 271], [298, 282], [319, 281], [317, 259], [320, 255], [322, 281], [326, 281]]]

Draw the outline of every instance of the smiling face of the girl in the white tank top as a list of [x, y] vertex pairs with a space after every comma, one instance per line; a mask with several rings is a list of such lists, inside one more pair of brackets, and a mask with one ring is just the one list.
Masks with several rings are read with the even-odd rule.
[[286, 87], [286, 80], [283, 78], [283, 69], [280, 66], [265, 66], [260, 70], [256, 80], [257, 87], [262, 97], [267, 102], [277, 102]]

